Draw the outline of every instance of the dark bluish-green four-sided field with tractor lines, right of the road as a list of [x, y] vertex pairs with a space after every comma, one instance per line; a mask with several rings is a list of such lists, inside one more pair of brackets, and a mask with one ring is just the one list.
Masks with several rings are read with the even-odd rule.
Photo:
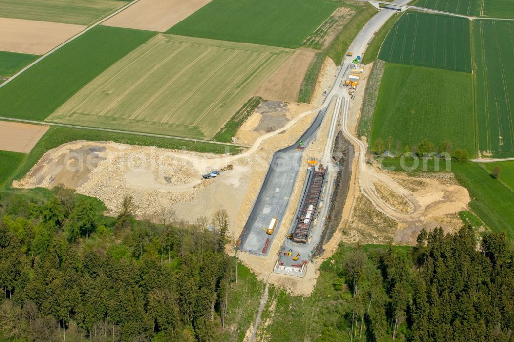
[[471, 72], [470, 45], [467, 19], [409, 12], [389, 31], [378, 58], [392, 63]]

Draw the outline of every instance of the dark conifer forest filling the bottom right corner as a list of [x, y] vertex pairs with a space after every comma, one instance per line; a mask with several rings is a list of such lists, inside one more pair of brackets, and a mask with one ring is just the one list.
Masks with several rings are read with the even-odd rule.
[[514, 267], [505, 234], [422, 230], [413, 249], [345, 255], [349, 340], [514, 341]]

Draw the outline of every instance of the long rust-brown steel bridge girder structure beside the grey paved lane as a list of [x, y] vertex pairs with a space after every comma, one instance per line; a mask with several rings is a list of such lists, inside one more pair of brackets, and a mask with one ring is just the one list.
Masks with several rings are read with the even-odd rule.
[[318, 170], [316, 170], [315, 165], [312, 165], [309, 169], [307, 191], [305, 191], [302, 198], [301, 210], [298, 213], [295, 228], [292, 231], [291, 240], [294, 242], [307, 242], [310, 231], [313, 228], [321, 192], [323, 191], [326, 168], [320, 164]]

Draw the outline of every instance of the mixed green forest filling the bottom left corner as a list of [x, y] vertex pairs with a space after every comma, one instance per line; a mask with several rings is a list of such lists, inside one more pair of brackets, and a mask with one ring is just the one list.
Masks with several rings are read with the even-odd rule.
[[[57, 188], [34, 203], [2, 200], [0, 327], [20, 340], [212, 341], [224, 325], [235, 262], [224, 253], [226, 212], [196, 224], [163, 210], [117, 218]], [[172, 222], [175, 222], [172, 224]]]

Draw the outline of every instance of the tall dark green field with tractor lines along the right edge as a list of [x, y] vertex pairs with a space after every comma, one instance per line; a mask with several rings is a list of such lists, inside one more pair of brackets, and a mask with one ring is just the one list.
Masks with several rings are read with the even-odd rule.
[[473, 22], [479, 150], [514, 156], [514, 23]]

